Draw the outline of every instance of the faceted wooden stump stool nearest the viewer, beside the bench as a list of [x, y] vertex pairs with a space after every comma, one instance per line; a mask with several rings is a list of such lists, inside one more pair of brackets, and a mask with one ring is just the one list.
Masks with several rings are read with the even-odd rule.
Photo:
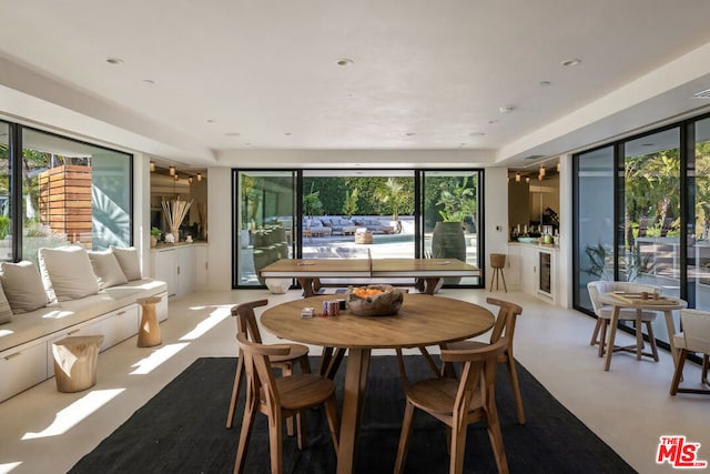
[[81, 392], [95, 385], [102, 342], [102, 335], [80, 335], [52, 343], [54, 380], [59, 392]]

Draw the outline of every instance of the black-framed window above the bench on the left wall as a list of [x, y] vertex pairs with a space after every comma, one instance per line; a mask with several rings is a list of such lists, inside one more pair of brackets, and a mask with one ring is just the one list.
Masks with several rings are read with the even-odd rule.
[[37, 262], [40, 248], [68, 243], [131, 245], [131, 159], [0, 122], [0, 259]]

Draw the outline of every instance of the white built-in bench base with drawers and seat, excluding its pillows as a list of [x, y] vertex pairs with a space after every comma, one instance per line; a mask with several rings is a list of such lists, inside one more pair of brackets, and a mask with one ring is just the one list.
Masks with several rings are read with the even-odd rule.
[[[7, 263], [2, 265], [4, 269]], [[77, 265], [71, 268], [81, 271]], [[10, 286], [7, 278], [4, 271], [3, 285]], [[95, 274], [93, 278], [101, 280]], [[49, 304], [13, 314], [10, 322], [0, 324], [0, 401], [54, 375], [54, 341], [70, 335], [103, 335], [103, 351], [135, 335], [140, 324], [138, 299], [160, 297], [156, 312], [159, 321], [164, 321], [168, 317], [166, 290], [164, 282], [139, 278], [83, 297], [52, 301], [52, 288], [47, 288]]]

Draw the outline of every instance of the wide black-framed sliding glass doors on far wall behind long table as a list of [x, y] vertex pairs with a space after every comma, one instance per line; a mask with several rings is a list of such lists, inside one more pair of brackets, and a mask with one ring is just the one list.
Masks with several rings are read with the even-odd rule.
[[[292, 258], [429, 256], [480, 268], [481, 175], [480, 170], [235, 170], [233, 286], [262, 285], [262, 268]], [[445, 226], [456, 232], [456, 245], [440, 235]]]

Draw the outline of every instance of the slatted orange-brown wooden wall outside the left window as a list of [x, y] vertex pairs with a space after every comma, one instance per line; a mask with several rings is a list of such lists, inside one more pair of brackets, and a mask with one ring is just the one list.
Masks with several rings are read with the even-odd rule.
[[64, 164], [39, 175], [40, 222], [91, 249], [91, 167]]

